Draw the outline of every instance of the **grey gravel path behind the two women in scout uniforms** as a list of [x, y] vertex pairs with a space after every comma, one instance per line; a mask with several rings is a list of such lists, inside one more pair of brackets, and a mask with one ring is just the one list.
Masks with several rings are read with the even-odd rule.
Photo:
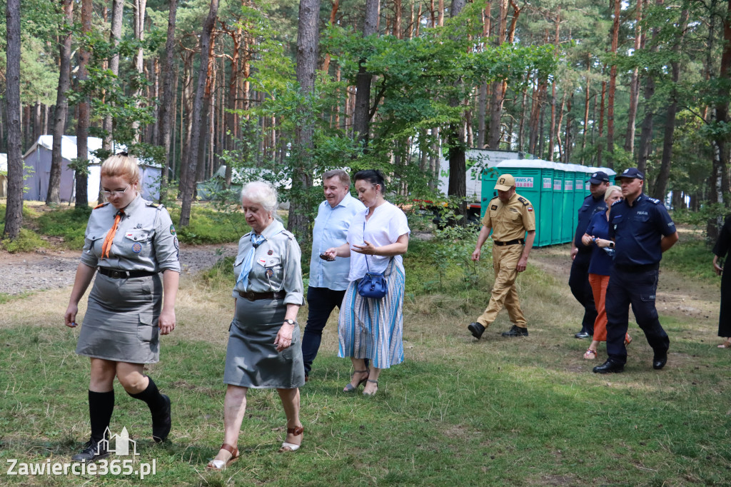
[[[209, 269], [221, 257], [235, 255], [236, 243], [181, 246], [181, 275]], [[0, 293], [56, 289], [74, 283], [79, 252], [39, 250], [21, 254], [0, 252]]]

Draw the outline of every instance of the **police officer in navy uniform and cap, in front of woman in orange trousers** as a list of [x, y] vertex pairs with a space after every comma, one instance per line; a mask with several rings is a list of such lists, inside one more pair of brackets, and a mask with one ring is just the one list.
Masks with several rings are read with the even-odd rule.
[[632, 305], [637, 325], [645, 332], [654, 351], [653, 369], [662, 369], [667, 362], [670, 339], [662, 329], [655, 309], [655, 294], [662, 252], [678, 241], [675, 223], [667, 209], [642, 190], [645, 175], [630, 167], [618, 174], [624, 200], [610, 209], [609, 235], [615, 241], [614, 267], [607, 286], [607, 361], [594, 367], [594, 372], [624, 371], [627, 350], [628, 308]]

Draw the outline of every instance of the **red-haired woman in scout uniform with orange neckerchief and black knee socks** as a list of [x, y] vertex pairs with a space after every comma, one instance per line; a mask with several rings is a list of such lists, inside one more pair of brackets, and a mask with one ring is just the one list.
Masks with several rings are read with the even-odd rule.
[[98, 268], [76, 347], [77, 354], [91, 358], [91, 439], [75, 461], [107, 455], [102, 439], [114, 409], [114, 377], [150, 408], [153, 439], [162, 442], [170, 433], [170, 399], [144, 374], [144, 364], [159, 360], [159, 333], [175, 328], [178, 239], [167, 210], [143, 200], [139, 184], [133, 157], [118, 154], [102, 164], [108, 201], [89, 217], [64, 317], [67, 326], [76, 326], [78, 302]]

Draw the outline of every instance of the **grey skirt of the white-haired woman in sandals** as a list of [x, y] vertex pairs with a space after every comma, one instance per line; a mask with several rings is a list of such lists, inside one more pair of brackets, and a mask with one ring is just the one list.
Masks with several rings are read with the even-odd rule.
[[284, 300], [236, 300], [229, 328], [224, 383], [245, 388], [292, 389], [305, 385], [300, 328], [292, 331], [292, 345], [277, 352], [274, 339], [284, 322]]

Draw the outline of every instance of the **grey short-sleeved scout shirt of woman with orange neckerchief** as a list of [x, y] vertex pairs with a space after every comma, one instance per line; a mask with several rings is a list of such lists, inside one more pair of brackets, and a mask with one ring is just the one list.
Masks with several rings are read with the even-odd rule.
[[104, 239], [114, 224], [117, 211], [110, 203], [91, 211], [84, 235], [82, 263], [119, 271], [181, 271], [180, 245], [170, 214], [162, 205], [143, 200], [140, 195], [124, 208], [109, 257], [102, 258]]

